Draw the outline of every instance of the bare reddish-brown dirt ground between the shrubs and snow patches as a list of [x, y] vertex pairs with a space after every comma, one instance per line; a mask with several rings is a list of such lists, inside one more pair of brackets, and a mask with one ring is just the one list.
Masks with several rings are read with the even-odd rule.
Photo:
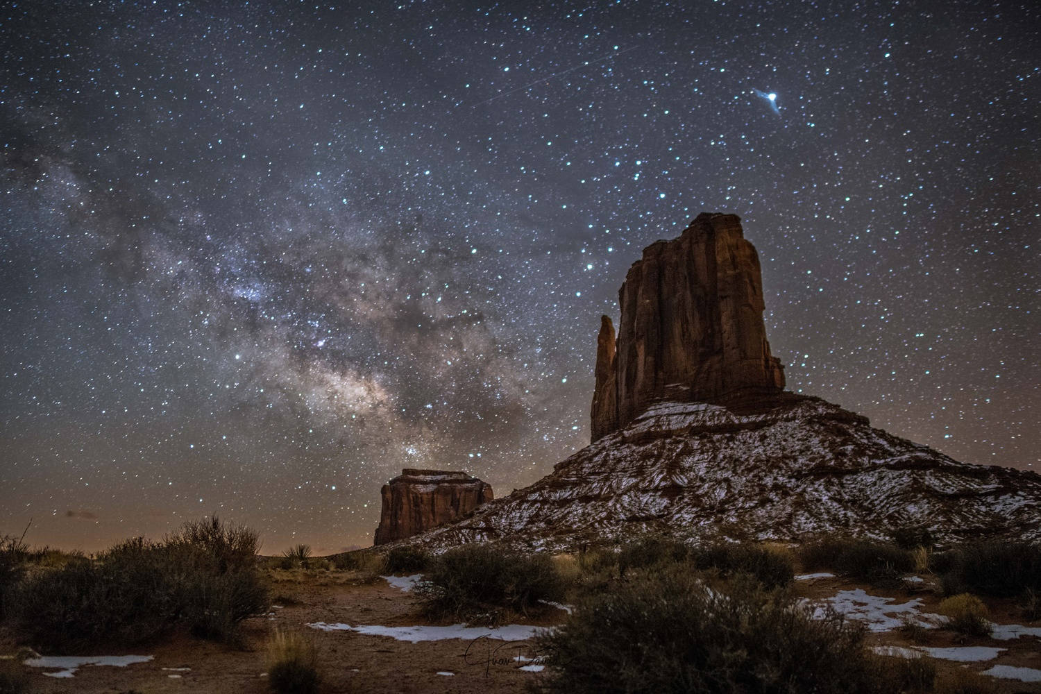
[[[54, 672], [26, 668], [30, 672], [29, 692], [41, 694], [122, 693], [168, 694], [200, 693], [259, 694], [269, 692], [264, 674], [264, 640], [273, 626], [306, 633], [314, 640], [323, 675], [322, 691], [335, 692], [523, 692], [535, 672], [519, 667], [512, 657], [518, 652], [537, 656], [530, 643], [502, 646], [502, 642], [451, 639], [409, 643], [385, 636], [354, 632], [322, 632], [306, 626], [312, 622], [347, 622], [405, 626], [430, 624], [420, 614], [414, 595], [389, 586], [383, 580], [358, 583], [354, 574], [336, 571], [275, 571], [275, 605], [265, 617], [251, 619], [245, 627], [245, 648], [174, 635], [161, 643], [132, 650], [100, 648], [99, 656], [153, 656], [147, 663], [127, 667], [83, 666], [72, 678], [45, 676]], [[921, 612], [935, 612], [939, 599], [928, 584], [884, 590], [857, 585], [839, 579], [796, 582], [796, 591], [811, 599], [834, 596], [840, 590], [863, 588], [871, 595], [892, 597], [896, 602], [920, 598]], [[991, 618], [998, 623], [1023, 623], [1012, 601], [989, 602]], [[540, 619], [510, 620], [512, 623], [549, 626], [564, 618], [562, 611], [550, 609]], [[996, 659], [984, 663], [937, 661], [942, 670], [968, 668], [986, 670], [994, 665], [1041, 669], [1041, 639], [1021, 637], [1009, 641], [972, 638], [959, 641], [957, 635], [931, 629], [915, 643], [899, 631], [873, 634], [871, 645], [930, 647], [992, 646], [1006, 648]], [[502, 646], [502, 647], [501, 647]], [[0, 634], [0, 653], [11, 653], [10, 635]], [[438, 674], [450, 672], [451, 675]], [[1024, 684], [990, 678], [1001, 694], [1041, 693], [1041, 684]]]

